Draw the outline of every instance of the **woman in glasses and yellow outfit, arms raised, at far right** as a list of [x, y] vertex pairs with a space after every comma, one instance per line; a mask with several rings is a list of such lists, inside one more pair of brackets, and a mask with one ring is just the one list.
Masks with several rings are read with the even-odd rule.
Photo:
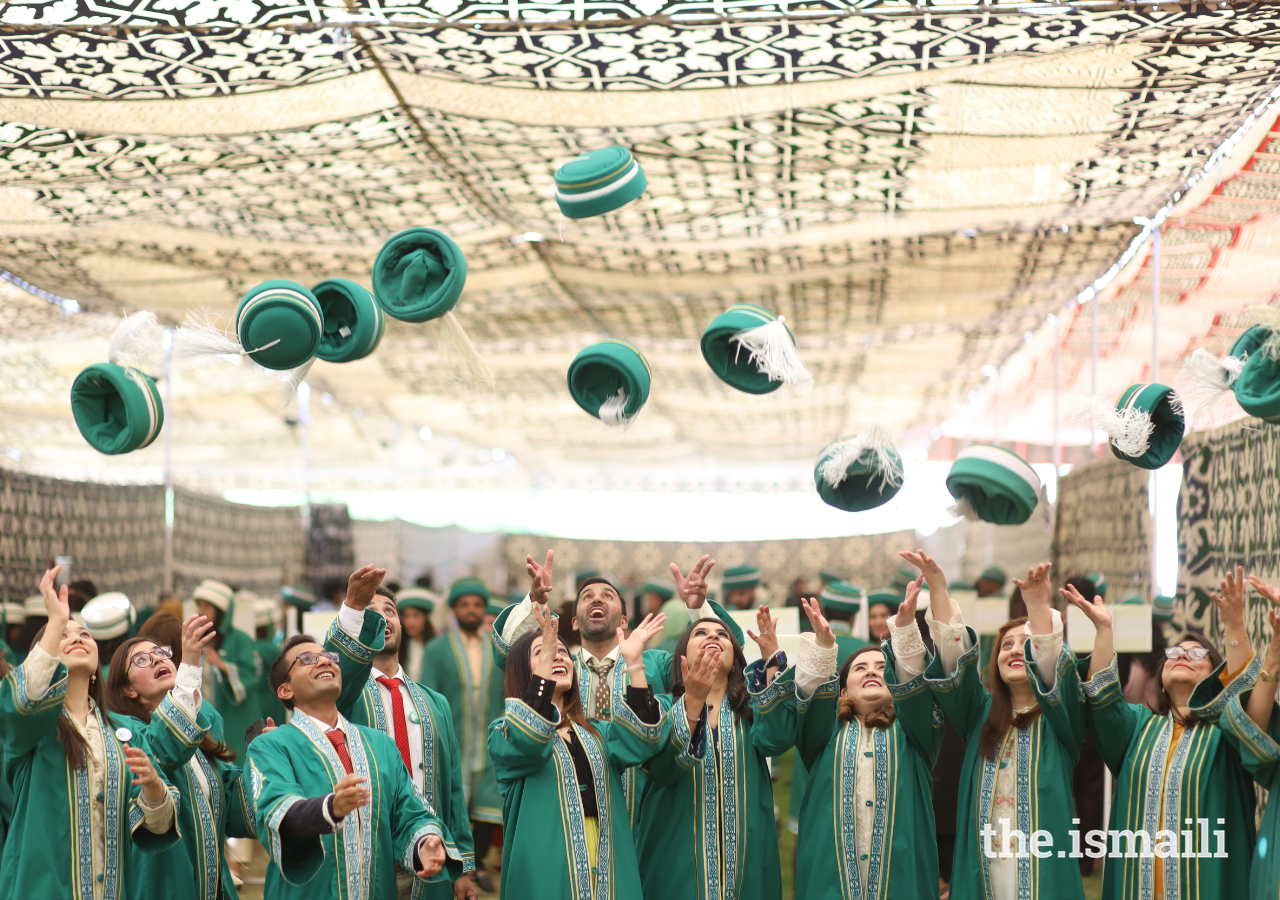
[[[1117, 781], [1108, 828], [1111, 835], [1137, 833], [1105, 841], [1105, 900], [1220, 900], [1248, 885], [1253, 783], [1238, 739], [1210, 721], [1253, 686], [1261, 663], [1244, 627], [1244, 571], [1229, 574], [1221, 588], [1211, 597], [1222, 622], [1226, 662], [1204, 635], [1187, 632], [1165, 650], [1157, 712], [1125, 703], [1111, 609], [1102, 598], [1091, 602], [1075, 588], [1062, 590], [1097, 629], [1083, 689], [1093, 740]], [[1093, 858], [1103, 854], [1103, 846], [1085, 836], [1082, 849]]]

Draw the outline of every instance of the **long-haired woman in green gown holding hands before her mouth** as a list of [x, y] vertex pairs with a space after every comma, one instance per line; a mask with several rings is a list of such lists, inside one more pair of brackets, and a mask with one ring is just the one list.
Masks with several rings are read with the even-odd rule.
[[718, 618], [695, 620], [676, 644], [671, 695], [659, 698], [667, 719], [644, 768], [635, 830], [645, 900], [782, 895], [768, 758], [794, 737], [771, 732], [760, 714], [795, 685], [769, 684], [776, 658], [773, 666], [759, 659], [748, 672], [742, 645]]

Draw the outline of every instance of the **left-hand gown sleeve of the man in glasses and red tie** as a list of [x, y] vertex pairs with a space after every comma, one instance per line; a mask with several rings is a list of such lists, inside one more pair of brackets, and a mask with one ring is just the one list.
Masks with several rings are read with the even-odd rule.
[[294, 781], [288, 746], [283, 740], [271, 740], [275, 735], [273, 731], [257, 737], [248, 745], [244, 760], [257, 817], [257, 840], [287, 885], [306, 885], [324, 868], [324, 845], [319, 835], [280, 836], [284, 814], [308, 795]]

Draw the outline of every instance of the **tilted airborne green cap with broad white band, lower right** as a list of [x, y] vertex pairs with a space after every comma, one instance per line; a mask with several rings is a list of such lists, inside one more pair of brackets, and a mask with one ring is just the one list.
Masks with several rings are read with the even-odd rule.
[[1039, 476], [1023, 457], [995, 444], [969, 444], [947, 474], [955, 512], [995, 525], [1021, 525], [1030, 518], [1039, 488]]

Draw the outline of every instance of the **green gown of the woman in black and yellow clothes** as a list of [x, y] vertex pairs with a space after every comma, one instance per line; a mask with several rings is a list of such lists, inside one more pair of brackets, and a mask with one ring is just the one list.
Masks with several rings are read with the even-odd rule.
[[631, 823], [620, 775], [658, 750], [662, 723], [645, 725], [625, 703], [593, 735], [575, 725], [595, 785], [595, 868], [584, 840], [582, 800], [559, 725], [511, 698], [489, 726], [489, 754], [503, 795], [502, 896], [534, 900], [640, 900]]

